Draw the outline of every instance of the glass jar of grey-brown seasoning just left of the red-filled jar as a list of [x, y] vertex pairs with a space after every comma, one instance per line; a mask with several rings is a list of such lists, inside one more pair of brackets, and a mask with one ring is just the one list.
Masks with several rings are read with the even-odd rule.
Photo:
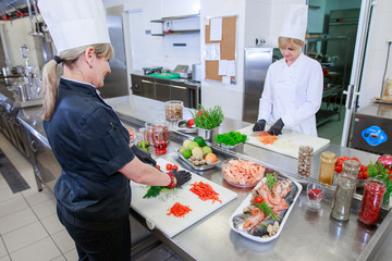
[[335, 220], [347, 221], [350, 209], [356, 188], [357, 179], [344, 171], [338, 175], [336, 189], [333, 196], [331, 216]]

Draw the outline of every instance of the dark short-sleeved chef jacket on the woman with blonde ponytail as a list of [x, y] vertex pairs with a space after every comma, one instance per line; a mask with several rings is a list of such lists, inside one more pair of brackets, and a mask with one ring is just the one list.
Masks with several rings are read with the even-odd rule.
[[61, 78], [56, 110], [44, 127], [62, 174], [54, 195], [68, 213], [107, 222], [128, 214], [128, 179], [118, 172], [134, 159], [130, 135], [93, 85]]

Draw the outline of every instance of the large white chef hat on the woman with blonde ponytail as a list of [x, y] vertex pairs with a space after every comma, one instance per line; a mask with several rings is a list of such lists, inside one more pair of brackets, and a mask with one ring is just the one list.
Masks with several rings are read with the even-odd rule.
[[110, 44], [101, 0], [39, 0], [38, 8], [59, 52]]

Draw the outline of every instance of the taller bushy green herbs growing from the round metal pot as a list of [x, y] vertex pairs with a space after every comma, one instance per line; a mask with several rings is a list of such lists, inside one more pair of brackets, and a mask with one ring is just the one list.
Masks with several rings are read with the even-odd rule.
[[199, 105], [196, 111], [191, 111], [192, 117], [195, 119], [195, 126], [204, 129], [212, 129], [218, 127], [224, 119], [222, 108], [215, 105], [213, 108], [205, 109]]

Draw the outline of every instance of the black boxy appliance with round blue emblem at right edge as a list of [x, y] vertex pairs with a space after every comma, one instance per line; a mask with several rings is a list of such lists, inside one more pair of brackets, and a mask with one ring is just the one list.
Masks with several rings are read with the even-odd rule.
[[370, 104], [354, 114], [351, 147], [378, 154], [392, 153], [392, 104]]

